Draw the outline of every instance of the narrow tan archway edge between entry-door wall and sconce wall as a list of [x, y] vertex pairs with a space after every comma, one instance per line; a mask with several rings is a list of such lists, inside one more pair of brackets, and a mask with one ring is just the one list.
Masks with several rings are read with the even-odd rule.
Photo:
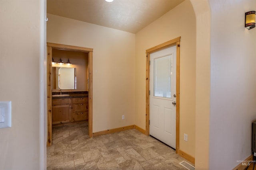
[[[190, 0], [196, 14], [196, 152], [197, 170], [209, 169], [210, 119], [210, 6], [208, 0]], [[214, 162], [218, 164], [218, 162]]]

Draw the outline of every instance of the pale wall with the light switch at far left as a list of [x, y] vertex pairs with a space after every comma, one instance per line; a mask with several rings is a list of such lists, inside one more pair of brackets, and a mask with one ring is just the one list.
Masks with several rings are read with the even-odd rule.
[[0, 169], [43, 170], [44, 0], [1, 0], [0, 23], [0, 101], [12, 101], [12, 127], [0, 129]]

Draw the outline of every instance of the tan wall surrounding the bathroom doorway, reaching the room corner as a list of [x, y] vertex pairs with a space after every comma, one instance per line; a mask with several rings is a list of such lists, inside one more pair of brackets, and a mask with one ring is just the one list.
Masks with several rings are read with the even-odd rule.
[[135, 34], [48, 14], [47, 42], [94, 49], [93, 132], [135, 123]]

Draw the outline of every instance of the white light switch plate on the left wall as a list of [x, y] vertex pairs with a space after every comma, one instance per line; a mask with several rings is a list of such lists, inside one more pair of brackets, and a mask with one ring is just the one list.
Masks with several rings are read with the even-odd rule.
[[12, 126], [11, 108], [12, 103], [10, 101], [0, 102], [0, 128]]

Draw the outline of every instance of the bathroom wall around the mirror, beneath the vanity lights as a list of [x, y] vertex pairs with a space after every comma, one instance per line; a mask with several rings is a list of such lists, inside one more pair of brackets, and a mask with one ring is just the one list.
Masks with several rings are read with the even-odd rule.
[[[72, 65], [64, 64], [62, 65], [62, 67], [76, 68], [76, 90], [88, 91], [88, 88], [87, 88], [88, 53], [53, 49], [52, 56], [55, 62], [58, 62], [60, 58], [62, 59], [63, 62], [67, 62], [69, 59]], [[59, 67], [60, 64], [53, 64], [52, 66]]]

